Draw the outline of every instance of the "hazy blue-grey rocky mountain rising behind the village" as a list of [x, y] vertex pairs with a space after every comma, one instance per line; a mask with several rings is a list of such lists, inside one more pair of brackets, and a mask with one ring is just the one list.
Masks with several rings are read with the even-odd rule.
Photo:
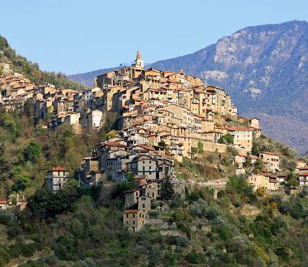
[[[240, 29], [205, 49], [151, 66], [183, 69], [207, 84], [224, 88], [241, 114], [261, 118], [264, 133], [300, 153], [308, 151], [306, 21]], [[82, 81], [77, 77], [70, 76]]]

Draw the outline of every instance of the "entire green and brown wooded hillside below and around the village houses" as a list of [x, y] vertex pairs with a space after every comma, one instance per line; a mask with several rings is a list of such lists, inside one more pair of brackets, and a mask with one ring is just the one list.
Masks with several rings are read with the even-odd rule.
[[[75, 179], [82, 157], [116, 116], [107, 116], [99, 132], [77, 136], [62, 127], [53, 133], [34, 124], [30, 104], [21, 114], [2, 111], [0, 117], [1, 198], [14, 202], [18, 193], [28, 202], [21, 213], [0, 212], [0, 266], [307, 266], [305, 190], [264, 197], [244, 177], [228, 175], [235, 151], [223, 160], [199, 151], [176, 166], [177, 175], [196, 181], [229, 176], [218, 199], [207, 188], [187, 187], [185, 196], [172, 194], [163, 206], [153, 201], [153, 223], [140, 232], [123, 231], [123, 192], [134, 188], [133, 179], [111, 188], [77, 188]], [[283, 171], [294, 172], [298, 155], [283, 144], [262, 136], [253, 149], [280, 153]], [[70, 171], [70, 181], [52, 194], [44, 175], [57, 165]]]

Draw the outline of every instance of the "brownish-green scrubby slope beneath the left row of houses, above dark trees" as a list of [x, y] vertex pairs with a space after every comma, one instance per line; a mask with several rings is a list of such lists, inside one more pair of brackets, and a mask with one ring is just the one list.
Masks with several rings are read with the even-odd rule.
[[76, 177], [82, 158], [103, 133], [76, 136], [70, 127], [56, 132], [34, 125], [27, 109], [22, 114], [0, 112], [0, 198], [16, 193], [31, 196], [44, 182], [47, 170], [64, 166]]

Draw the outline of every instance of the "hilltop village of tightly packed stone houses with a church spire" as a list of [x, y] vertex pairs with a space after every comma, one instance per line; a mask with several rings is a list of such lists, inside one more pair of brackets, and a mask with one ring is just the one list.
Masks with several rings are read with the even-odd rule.
[[[262, 170], [247, 178], [254, 190], [278, 191], [287, 179], [281, 173], [279, 154], [261, 151], [252, 155], [253, 140], [261, 136], [258, 118], [239, 116], [229, 94], [203, 84], [198, 77], [144, 68], [140, 51], [132, 66], [95, 77], [94, 88], [84, 92], [31, 84], [8, 64], [2, 67], [0, 106], [13, 111], [31, 103], [36, 119], [51, 131], [60, 125], [69, 125], [75, 134], [99, 130], [107, 112], [119, 114], [120, 130], [108, 133], [81, 163], [79, 185], [137, 181], [136, 188], [125, 192], [123, 224], [131, 231], [146, 224], [151, 203], [163, 198], [167, 186], [185, 193], [187, 181], [177, 178], [175, 162], [192, 158], [196, 151], [222, 156], [228, 149], [235, 150], [236, 175], [245, 174], [248, 162], [262, 162]], [[305, 162], [297, 163], [297, 172], [300, 186], [305, 186]], [[49, 170], [51, 191], [65, 186], [68, 177], [62, 166]], [[5, 208], [5, 200], [1, 203]]]

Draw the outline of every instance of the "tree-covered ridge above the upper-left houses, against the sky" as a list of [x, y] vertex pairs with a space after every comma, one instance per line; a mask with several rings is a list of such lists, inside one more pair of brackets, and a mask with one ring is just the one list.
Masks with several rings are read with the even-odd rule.
[[37, 63], [32, 63], [27, 58], [17, 55], [16, 51], [10, 47], [8, 41], [3, 36], [0, 36], [0, 51], [3, 51], [3, 53], [0, 53], [0, 62], [10, 64], [10, 68], [13, 71], [23, 74], [35, 84], [53, 84], [56, 88], [79, 91], [86, 89], [86, 86], [66, 79], [63, 73], [40, 71]]

